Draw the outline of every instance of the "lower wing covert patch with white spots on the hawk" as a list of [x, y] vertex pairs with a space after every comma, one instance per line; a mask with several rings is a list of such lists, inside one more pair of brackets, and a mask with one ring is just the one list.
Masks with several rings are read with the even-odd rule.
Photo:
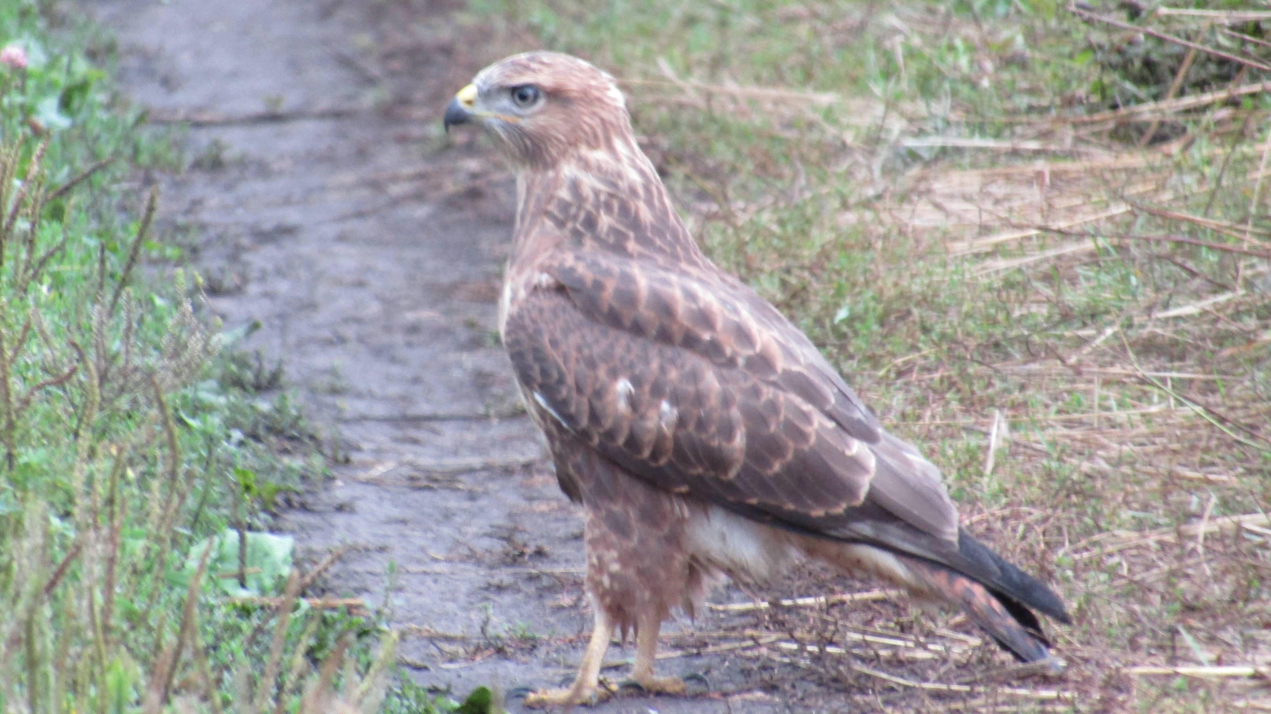
[[596, 324], [563, 292], [530, 292], [503, 342], [548, 418], [662, 488], [808, 529], [868, 492], [872, 452], [816, 408], [744, 371]]

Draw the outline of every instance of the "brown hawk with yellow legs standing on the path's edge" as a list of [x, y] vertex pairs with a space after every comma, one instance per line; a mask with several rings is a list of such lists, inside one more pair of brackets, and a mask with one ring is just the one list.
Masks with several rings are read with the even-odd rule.
[[557, 479], [585, 513], [595, 629], [573, 686], [605, 696], [615, 629], [632, 680], [657, 634], [723, 577], [771, 581], [802, 556], [961, 607], [1021, 661], [1049, 653], [1046, 586], [958, 525], [939, 470], [887, 433], [808, 338], [698, 248], [636, 141], [614, 77], [554, 52], [508, 57], [450, 102], [516, 172], [500, 330]]

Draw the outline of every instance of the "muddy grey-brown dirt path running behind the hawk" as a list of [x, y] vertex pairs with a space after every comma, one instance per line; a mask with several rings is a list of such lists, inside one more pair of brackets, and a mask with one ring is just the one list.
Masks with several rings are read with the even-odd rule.
[[[437, 137], [445, 99], [488, 57], [466, 56], [444, 14], [403, 33], [385, 6], [93, 9], [119, 38], [126, 91], [154, 118], [206, 122], [188, 133], [194, 168], [163, 179], [163, 217], [194, 229], [212, 310], [230, 329], [261, 323], [247, 346], [283, 361], [306, 412], [350, 455], [280, 527], [314, 551], [350, 548], [333, 572], [339, 595], [381, 602], [394, 569], [397, 623], [417, 626], [402, 656], [421, 682], [456, 694], [555, 685], [591, 619], [581, 522], [515, 415], [493, 339], [511, 180], [479, 144]], [[384, 50], [393, 42], [400, 52]], [[385, 97], [389, 111], [370, 109]], [[746, 600], [716, 600], [727, 597]], [[787, 710], [756, 689], [766, 677], [752, 659], [662, 666], [742, 694], [624, 697], [596, 711]]]

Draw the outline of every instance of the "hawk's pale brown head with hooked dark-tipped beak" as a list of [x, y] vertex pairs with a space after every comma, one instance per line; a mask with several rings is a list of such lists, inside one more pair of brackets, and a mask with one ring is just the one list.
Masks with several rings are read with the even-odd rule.
[[446, 107], [447, 132], [466, 123], [480, 125], [513, 164], [538, 169], [632, 137], [614, 77], [559, 52], [513, 55], [478, 72]]

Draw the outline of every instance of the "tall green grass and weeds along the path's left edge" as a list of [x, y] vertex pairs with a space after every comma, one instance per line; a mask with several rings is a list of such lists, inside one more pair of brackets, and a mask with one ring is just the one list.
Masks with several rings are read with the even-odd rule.
[[381, 612], [287, 586], [269, 509], [322, 455], [198, 315], [135, 183], [179, 151], [67, 13], [0, 4], [29, 60], [0, 66], [0, 710], [454, 710], [395, 673]]

